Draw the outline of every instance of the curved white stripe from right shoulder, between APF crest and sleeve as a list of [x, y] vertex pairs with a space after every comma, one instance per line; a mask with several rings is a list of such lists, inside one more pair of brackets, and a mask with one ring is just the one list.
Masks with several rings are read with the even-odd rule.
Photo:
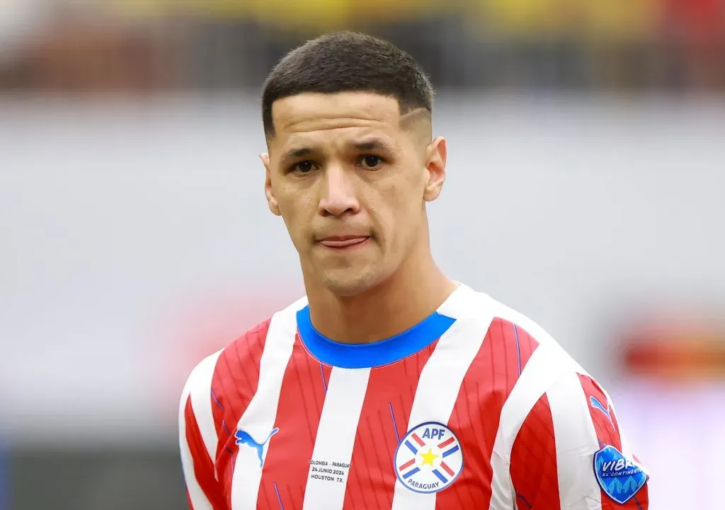
[[571, 359], [558, 355], [550, 345], [539, 344], [523, 367], [521, 376], [511, 390], [502, 409], [496, 440], [494, 441], [491, 467], [491, 503], [489, 510], [515, 508], [515, 495], [511, 482], [510, 463], [513, 443], [521, 430], [523, 420], [547, 388], [566, 372], [572, 371]]

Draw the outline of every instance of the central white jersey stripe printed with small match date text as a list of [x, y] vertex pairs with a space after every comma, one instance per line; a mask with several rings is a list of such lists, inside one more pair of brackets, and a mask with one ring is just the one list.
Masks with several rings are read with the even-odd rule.
[[[342, 508], [349, 469], [334, 467], [333, 464], [350, 464], [369, 379], [369, 368], [332, 369], [320, 414], [315, 448], [312, 450], [313, 464], [307, 472], [303, 510]], [[326, 462], [327, 465], [314, 464], [315, 462]], [[333, 469], [342, 475], [322, 473], [320, 469]]]

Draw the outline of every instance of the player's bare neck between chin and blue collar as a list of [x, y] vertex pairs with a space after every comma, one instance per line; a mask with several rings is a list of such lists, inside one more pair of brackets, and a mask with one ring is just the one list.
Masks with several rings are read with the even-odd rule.
[[428, 317], [455, 290], [430, 251], [419, 264], [404, 262], [388, 279], [356, 296], [307, 287], [312, 325], [341, 343], [371, 343], [403, 333]]

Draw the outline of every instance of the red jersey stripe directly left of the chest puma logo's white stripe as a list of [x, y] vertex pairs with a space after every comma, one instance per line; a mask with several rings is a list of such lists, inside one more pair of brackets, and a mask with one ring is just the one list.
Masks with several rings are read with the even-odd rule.
[[[217, 430], [216, 467], [231, 508], [232, 469], [239, 446], [236, 445], [236, 426], [257, 391], [260, 378], [260, 359], [265, 347], [270, 320], [249, 330], [222, 351], [217, 361], [212, 388], [212, 416]], [[231, 453], [230, 453], [231, 451]]]

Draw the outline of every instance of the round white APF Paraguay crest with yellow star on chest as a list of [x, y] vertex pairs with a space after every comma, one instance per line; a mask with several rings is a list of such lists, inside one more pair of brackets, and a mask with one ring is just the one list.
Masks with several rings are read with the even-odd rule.
[[406, 488], [430, 494], [451, 485], [463, 471], [463, 451], [458, 438], [441, 423], [417, 425], [395, 450], [395, 472]]

